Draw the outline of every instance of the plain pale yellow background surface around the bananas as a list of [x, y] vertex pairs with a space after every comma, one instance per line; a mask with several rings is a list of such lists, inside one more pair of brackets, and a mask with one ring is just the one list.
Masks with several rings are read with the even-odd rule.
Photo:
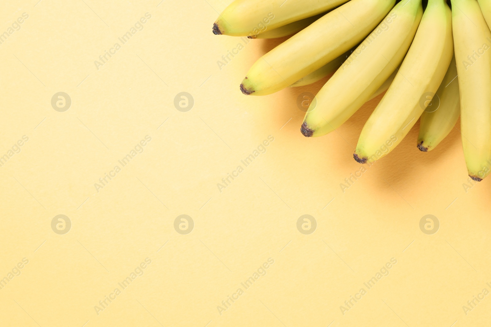
[[[300, 134], [296, 100], [322, 82], [246, 97], [240, 81], [277, 41], [212, 34], [228, 0], [29, 0], [0, 3], [0, 326], [487, 326], [490, 179], [465, 192], [460, 133], [416, 148], [418, 124], [343, 193], [353, 147], [380, 97], [321, 138]], [[152, 18], [99, 70], [94, 61], [145, 13]], [[66, 92], [71, 107], [51, 106]], [[173, 101], [194, 98], [191, 111]], [[165, 122], [165, 123], [164, 123]], [[164, 124], [163, 124], [164, 123]], [[163, 124], [163, 125], [162, 125]], [[103, 189], [94, 183], [149, 135]], [[274, 141], [226, 189], [217, 183]], [[68, 216], [58, 235], [52, 219]], [[174, 229], [178, 215], [194, 229]], [[313, 234], [297, 219], [310, 214]], [[433, 214], [433, 235], [419, 228]], [[109, 306], [118, 282], [152, 263]], [[268, 258], [274, 264], [220, 315], [217, 306]], [[390, 274], [343, 315], [340, 305], [391, 258]], [[330, 324], [330, 325], [329, 325]], [[452, 325], [454, 324], [454, 325]]]

